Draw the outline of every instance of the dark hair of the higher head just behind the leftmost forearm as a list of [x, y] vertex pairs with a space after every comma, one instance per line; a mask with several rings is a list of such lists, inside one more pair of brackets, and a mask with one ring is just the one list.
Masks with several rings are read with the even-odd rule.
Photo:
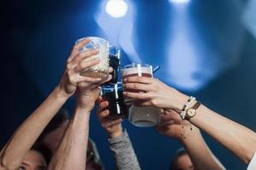
[[56, 128], [61, 127], [63, 122], [68, 121], [70, 118], [68, 111], [66, 109], [61, 109], [56, 113], [53, 119], [49, 122], [47, 127], [44, 128], [43, 133], [38, 138], [38, 142], [41, 142], [44, 137], [54, 131]]

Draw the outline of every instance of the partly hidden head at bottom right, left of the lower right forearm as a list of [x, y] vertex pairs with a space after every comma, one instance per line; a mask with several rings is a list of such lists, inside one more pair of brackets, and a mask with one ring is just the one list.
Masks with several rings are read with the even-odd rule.
[[172, 160], [170, 170], [193, 170], [195, 169], [189, 157], [189, 154], [183, 148], [177, 150]]

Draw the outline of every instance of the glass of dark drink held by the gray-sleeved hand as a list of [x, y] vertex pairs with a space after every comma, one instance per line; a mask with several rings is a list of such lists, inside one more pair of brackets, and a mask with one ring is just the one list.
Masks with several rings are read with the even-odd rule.
[[123, 85], [121, 82], [102, 86], [101, 95], [104, 101], [108, 101], [108, 107], [106, 108], [109, 111], [108, 118], [127, 117], [128, 110], [124, 102]]

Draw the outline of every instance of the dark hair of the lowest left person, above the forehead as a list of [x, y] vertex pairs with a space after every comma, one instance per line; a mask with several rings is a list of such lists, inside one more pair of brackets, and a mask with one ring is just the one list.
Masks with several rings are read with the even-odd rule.
[[32, 145], [31, 150], [38, 151], [42, 156], [44, 156], [44, 160], [46, 161], [46, 164], [49, 165], [49, 161], [51, 157], [53, 156], [52, 151], [48, 148], [47, 145], [43, 143], [35, 143]]

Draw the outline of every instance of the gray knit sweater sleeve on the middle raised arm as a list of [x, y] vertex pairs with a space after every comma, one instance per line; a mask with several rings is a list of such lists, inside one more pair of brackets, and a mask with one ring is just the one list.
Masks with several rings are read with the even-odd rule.
[[126, 131], [121, 136], [108, 141], [118, 170], [141, 170]]

